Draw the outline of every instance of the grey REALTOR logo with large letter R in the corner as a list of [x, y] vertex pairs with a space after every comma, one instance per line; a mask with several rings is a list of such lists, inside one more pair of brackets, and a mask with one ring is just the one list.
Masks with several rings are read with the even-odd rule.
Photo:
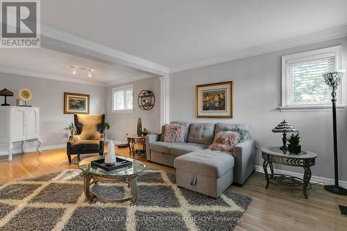
[[40, 47], [40, 1], [1, 1], [1, 48]]

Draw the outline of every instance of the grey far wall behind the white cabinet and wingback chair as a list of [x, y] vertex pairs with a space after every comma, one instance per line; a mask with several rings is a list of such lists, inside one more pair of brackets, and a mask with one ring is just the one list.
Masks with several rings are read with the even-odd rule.
[[[8, 98], [10, 105], [15, 105], [15, 100], [19, 99], [19, 89], [31, 89], [33, 99], [28, 104], [41, 108], [40, 135], [44, 146], [67, 142], [63, 128], [74, 118], [72, 114], [63, 114], [64, 92], [90, 94], [90, 114], [105, 112], [105, 87], [0, 73], [0, 89], [4, 87], [15, 93], [14, 97]], [[2, 96], [0, 101], [3, 102]], [[14, 149], [17, 148], [15, 146]]]

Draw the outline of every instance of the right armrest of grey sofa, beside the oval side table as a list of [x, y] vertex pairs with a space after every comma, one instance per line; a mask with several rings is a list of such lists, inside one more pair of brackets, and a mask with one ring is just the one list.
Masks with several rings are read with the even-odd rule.
[[234, 147], [234, 182], [243, 185], [255, 170], [255, 141], [247, 139]]

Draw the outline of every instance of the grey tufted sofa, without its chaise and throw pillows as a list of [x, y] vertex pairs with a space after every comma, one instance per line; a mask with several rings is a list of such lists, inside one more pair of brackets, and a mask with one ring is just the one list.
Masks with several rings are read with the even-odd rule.
[[[187, 123], [173, 121], [185, 126], [184, 143], [163, 142], [160, 134], [146, 136], [146, 155], [147, 160], [174, 166], [176, 157], [192, 152], [201, 152], [208, 149], [212, 144], [214, 136], [218, 132], [230, 128], [242, 128], [248, 130], [246, 124], [241, 123]], [[233, 182], [243, 185], [248, 176], [255, 170], [255, 142], [248, 137], [244, 142], [237, 144], [233, 153], [228, 153], [233, 157]], [[209, 150], [208, 150], [209, 151]], [[215, 151], [216, 154], [221, 153]], [[179, 162], [176, 162], [176, 165]], [[176, 169], [179, 166], [176, 166]], [[232, 169], [232, 166], [230, 166]]]

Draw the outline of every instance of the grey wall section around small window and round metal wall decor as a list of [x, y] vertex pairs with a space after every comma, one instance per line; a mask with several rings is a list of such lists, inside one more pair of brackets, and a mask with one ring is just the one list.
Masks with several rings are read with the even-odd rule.
[[[114, 85], [106, 88], [106, 120], [110, 123], [113, 139], [122, 141], [124, 135], [135, 134], [137, 118], [142, 119], [142, 128], [148, 128], [152, 133], [160, 132], [160, 80], [159, 78], [146, 78], [124, 85], [134, 85], [134, 111], [112, 111], [112, 89], [123, 85]], [[144, 111], [137, 105], [137, 96], [143, 89], [151, 90], [155, 95], [155, 105], [152, 110]], [[126, 140], [125, 140], [126, 142]]]

